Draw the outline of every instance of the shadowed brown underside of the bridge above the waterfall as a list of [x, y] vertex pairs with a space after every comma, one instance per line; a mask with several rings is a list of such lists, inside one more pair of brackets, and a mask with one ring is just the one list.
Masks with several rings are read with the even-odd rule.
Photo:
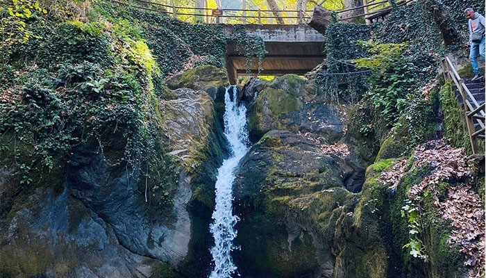
[[[260, 65], [262, 75], [305, 74], [324, 60], [323, 42], [265, 42], [267, 55]], [[230, 83], [236, 84], [238, 76], [258, 74], [258, 59], [246, 63], [246, 57], [228, 44], [226, 69]]]

